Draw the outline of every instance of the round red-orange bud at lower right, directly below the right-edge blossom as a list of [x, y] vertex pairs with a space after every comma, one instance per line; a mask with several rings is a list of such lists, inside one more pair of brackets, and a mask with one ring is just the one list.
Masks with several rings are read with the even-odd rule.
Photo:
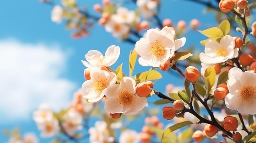
[[238, 127], [238, 120], [235, 117], [227, 116], [223, 120], [224, 129], [234, 131]]

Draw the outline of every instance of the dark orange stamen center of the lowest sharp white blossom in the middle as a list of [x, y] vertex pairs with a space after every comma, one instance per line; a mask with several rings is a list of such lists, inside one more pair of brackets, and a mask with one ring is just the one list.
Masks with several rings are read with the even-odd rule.
[[135, 101], [135, 96], [128, 92], [127, 89], [121, 90], [121, 92], [118, 92], [118, 98], [120, 104], [123, 104], [125, 106], [132, 106], [132, 102]]

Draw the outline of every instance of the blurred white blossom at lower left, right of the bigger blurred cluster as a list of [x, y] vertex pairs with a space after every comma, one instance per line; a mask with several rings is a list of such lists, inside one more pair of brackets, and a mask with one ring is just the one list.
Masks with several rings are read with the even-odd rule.
[[67, 114], [63, 116], [63, 123], [62, 126], [64, 130], [70, 136], [73, 136], [77, 130], [81, 130], [83, 122], [83, 117], [79, 112], [76, 112], [74, 109], [70, 109]]

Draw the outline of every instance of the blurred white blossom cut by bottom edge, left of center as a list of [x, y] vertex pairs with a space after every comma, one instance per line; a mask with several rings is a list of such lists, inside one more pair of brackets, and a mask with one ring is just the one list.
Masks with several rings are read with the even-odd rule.
[[88, 130], [90, 143], [113, 143], [114, 138], [109, 135], [107, 123], [105, 121], [96, 121], [94, 127]]

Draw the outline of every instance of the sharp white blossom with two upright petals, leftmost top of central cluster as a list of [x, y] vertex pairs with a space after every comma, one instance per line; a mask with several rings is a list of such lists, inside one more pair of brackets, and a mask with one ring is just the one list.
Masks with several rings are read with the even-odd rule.
[[87, 62], [82, 61], [83, 65], [87, 68], [90, 67], [102, 67], [102, 66], [112, 66], [117, 62], [120, 55], [120, 47], [116, 45], [111, 45], [108, 47], [105, 56], [102, 55], [100, 51], [90, 50], [85, 55]]

